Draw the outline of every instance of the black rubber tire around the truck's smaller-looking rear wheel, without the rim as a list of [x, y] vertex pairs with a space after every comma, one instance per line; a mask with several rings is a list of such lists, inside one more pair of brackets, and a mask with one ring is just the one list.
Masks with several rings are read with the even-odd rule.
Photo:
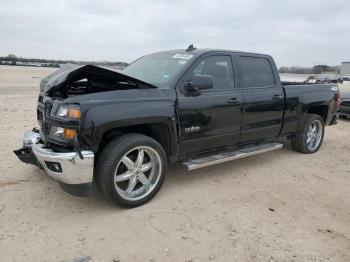
[[[315, 148], [310, 149], [307, 145], [307, 132], [309, 130], [309, 127], [312, 123], [315, 121], [319, 121], [321, 123], [321, 129], [322, 129], [322, 134], [321, 134], [321, 140], [319, 141], [318, 145]], [[296, 134], [296, 136], [291, 140], [292, 148], [293, 150], [304, 153], [304, 154], [312, 154], [316, 153], [323, 142], [323, 137], [324, 137], [324, 121], [322, 117], [319, 115], [315, 114], [307, 114], [304, 120], [304, 125], [302, 129]]]

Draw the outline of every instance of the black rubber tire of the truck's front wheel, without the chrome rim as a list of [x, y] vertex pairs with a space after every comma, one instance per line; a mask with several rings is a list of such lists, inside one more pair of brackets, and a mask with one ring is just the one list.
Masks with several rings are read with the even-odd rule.
[[[130, 200], [123, 197], [120, 192], [118, 193], [114, 179], [116, 169], [119, 168], [120, 163], [122, 163], [121, 159], [130, 152], [130, 150], [137, 147], [147, 147], [156, 151], [159, 156], [157, 159], [161, 162], [157, 166], [160, 167], [161, 170], [157, 172], [160, 177], [153, 185], [153, 189], [145, 197]], [[156, 140], [141, 134], [125, 134], [110, 141], [100, 153], [96, 164], [96, 179], [107, 198], [123, 207], [137, 207], [145, 204], [157, 194], [165, 179], [166, 168], [167, 158], [165, 151]], [[130, 181], [128, 181], [128, 183], [130, 183]]]

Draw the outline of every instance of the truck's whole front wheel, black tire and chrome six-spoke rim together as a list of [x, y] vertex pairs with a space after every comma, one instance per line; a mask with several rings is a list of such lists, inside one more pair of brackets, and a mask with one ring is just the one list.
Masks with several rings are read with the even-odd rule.
[[126, 134], [107, 144], [96, 168], [97, 181], [108, 198], [136, 207], [149, 201], [162, 186], [166, 155], [154, 139]]

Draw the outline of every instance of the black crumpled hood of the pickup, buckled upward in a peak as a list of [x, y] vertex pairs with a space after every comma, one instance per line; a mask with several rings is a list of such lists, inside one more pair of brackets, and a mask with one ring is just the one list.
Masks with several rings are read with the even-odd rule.
[[156, 86], [141, 81], [139, 79], [127, 76], [112, 69], [107, 69], [94, 65], [73, 65], [67, 64], [47, 77], [43, 78], [40, 82], [40, 90], [48, 93], [58, 89], [64, 89], [67, 85], [78, 81], [80, 79], [89, 78], [113, 78], [116, 82], [124, 81], [134, 84], [141, 84], [150, 88], [156, 88]]

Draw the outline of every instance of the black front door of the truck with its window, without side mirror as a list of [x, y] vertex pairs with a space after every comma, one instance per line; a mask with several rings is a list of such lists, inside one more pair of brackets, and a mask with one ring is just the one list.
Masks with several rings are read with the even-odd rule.
[[[184, 94], [184, 83], [195, 74], [213, 78], [213, 88]], [[231, 55], [202, 56], [177, 86], [180, 154], [193, 154], [230, 146], [239, 141], [241, 91], [235, 88]]]

